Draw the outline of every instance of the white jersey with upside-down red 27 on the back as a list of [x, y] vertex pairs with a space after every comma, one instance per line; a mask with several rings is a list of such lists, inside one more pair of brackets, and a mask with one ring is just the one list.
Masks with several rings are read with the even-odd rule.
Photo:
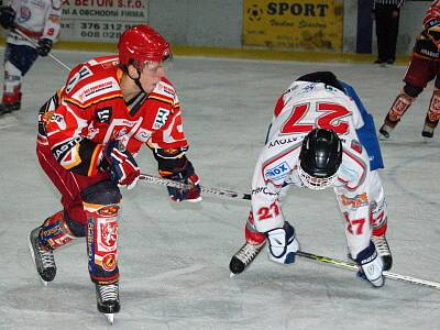
[[315, 128], [333, 130], [342, 141], [342, 164], [333, 186], [348, 221], [349, 248], [356, 254], [371, 237], [370, 161], [355, 129], [363, 125], [354, 101], [323, 84], [295, 81], [278, 99], [267, 141], [252, 180], [252, 218], [258, 232], [283, 227], [279, 194], [287, 186], [302, 187], [298, 176], [304, 138]]

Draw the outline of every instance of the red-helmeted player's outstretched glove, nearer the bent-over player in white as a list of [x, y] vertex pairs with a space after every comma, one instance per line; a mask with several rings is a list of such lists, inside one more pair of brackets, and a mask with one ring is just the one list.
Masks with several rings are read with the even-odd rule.
[[194, 166], [191, 162], [188, 160], [186, 161], [185, 167], [177, 173], [169, 173], [165, 170], [160, 170], [160, 174], [164, 178], [168, 178], [175, 182], [180, 182], [187, 185], [190, 185], [191, 188], [189, 189], [180, 189], [174, 187], [167, 187], [169, 197], [173, 201], [200, 201], [200, 186], [199, 186], [199, 177], [194, 170]]

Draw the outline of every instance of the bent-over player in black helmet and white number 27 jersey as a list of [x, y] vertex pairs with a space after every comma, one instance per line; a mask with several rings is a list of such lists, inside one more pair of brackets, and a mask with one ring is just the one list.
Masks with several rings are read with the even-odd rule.
[[232, 274], [243, 272], [266, 241], [270, 260], [294, 263], [299, 244], [280, 209], [280, 197], [292, 185], [333, 187], [359, 274], [374, 287], [383, 286], [382, 273], [392, 266], [392, 257], [389, 249], [384, 257], [377, 254], [372, 233], [385, 234], [386, 204], [378, 174], [371, 172], [356, 133], [363, 125], [360, 109], [332, 73], [305, 75], [289, 86], [277, 101], [255, 166], [246, 242], [230, 262]]

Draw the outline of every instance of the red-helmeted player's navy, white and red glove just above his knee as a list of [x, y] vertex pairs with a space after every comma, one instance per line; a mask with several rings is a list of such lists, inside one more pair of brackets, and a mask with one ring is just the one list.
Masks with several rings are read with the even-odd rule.
[[103, 154], [110, 167], [111, 180], [132, 189], [141, 174], [133, 155], [118, 140], [110, 141]]

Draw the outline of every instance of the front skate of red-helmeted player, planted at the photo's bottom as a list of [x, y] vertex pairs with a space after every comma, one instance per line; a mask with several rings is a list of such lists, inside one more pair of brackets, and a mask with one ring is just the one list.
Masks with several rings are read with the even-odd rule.
[[119, 285], [96, 284], [97, 307], [102, 312], [110, 324], [113, 324], [114, 314], [119, 312], [121, 305], [119, 304]]

